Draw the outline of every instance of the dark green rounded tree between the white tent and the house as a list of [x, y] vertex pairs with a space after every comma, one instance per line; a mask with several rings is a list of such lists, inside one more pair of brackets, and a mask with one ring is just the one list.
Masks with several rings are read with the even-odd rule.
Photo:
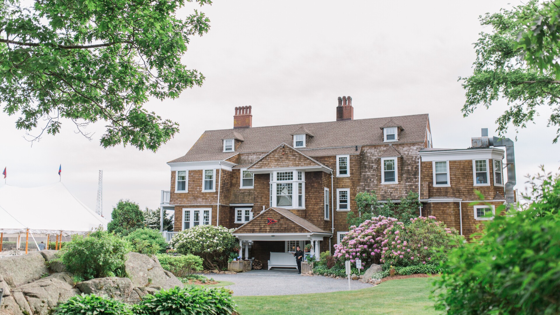
[[144, 212], [138, 203], [129, 200], [119, 200], [111, 212], [111, 221], [107, 230], [115, 234], [126, 236], [130, 232], [144, 227]]

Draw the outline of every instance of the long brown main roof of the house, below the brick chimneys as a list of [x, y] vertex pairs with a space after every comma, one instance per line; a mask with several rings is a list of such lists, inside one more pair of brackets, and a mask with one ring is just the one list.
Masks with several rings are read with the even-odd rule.
[[[355, 146], [384, 144], [380, 127], [389, 122], [405, 129], [400, 132], [398, 143], [424, 142], [428, 114], [240, 128], [235, 129], [235, 132], [239, 133], [244, 141], [235, 151], [240, 153], [263, 152], [264, 155], [277, 147], [279, 143], [292, 143], [293, 133], [302, 128], [312, 131], [314, 137], [313, 141], [306, 143], [305, 150], [301, 150], [301, 152], [311, 149], [330, 150], [340, 147], [346, 147], [348, 151], [351, 151]], [[170, 163], [216, 161], [229, 158], [229, 156], [226, 156], [227, 153], [222, 152], [222, 139], [230, 137], [233, 131], [234, 129], [205, 131], [189, 152]], [[314, 150], [313, 152], [321, 152], [321, 150]], [[323, 154], [313, 155], [309, 153], [307, 155], [321, 156]]]

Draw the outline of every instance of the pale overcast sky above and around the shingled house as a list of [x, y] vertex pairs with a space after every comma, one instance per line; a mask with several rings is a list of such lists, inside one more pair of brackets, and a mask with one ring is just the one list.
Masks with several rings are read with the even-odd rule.
[[[480, 128], [496, 135], [494, 121], [505, 104], [460, 112], [459, 76], [472, 73], [472, 43], [483, 30], [478, 16], [510, 7], [496, 1], [214, 1], [202, 7], [211, 30], [194, 38], [183, 60], [206, 76], [202, 87], [179, 99], [146, 105], [180, 123], [180, 134], [156, 153], [134, 147], [104, 149], [104, 124], [91, 125], [88, 141], [71, 122], [57, 136], [24, 139], [16, 117], [0, 113], [0, 168], [7, 183], [35, 187], [62, 181], [95, 210], [97, 174], [104, 171], [103, 212], [119, 199], [156, 208], [169, 190], [167, 161], [189, 150], [205, 130], [233, 127], [234, 107], [253, 106], [253, 126], [335, 120], [338, 96], [352, 96], [354, 119], [430, 114], [434, 147], [466, 148]], [[517, 4], [517, 2], [513, 2]], [[182, 8], [185, 16], [198, 6]], [[556, 129], [545, 127], [549, 110], [515, 143], [517, 187], [544, 164], [560, 166]], [[510, 138], [515, 137], [511, 129]], [[1, 172], [1, 170], [0, 170]], [[2, 184], [3, 185], [3, 180]], [[33, 202], [41, 207], [40, 200]], [[45, 214], [50, 215], [50, 214]]]

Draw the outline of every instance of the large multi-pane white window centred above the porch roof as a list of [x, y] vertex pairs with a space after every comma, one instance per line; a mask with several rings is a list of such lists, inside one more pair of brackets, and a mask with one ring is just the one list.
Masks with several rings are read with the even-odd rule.
[[270, 206], [303, 208], [305, 206], [305, 172], [272, 172], [270, 176]]

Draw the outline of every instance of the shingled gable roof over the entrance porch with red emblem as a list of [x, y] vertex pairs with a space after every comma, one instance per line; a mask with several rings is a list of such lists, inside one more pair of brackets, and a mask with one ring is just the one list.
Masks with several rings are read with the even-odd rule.
[[[272, 217], [276, 218], [279, 222], [274, 224], [267, 224], [267, 221], [262, 220], [263, 218]], [[279, 217], [286, 218], [287, 222], [280, 222]], [[283, 221], [283, 220], [282, 220]], [[278, 230], [278, 231], [277, 231]], [[241, 225], [234, 231], [236, 233], [325, 233], [331, 234], [328, 231], [320, 229], [315, 224], [305, 220], [301, 216], [294, 214], [292, 211], [269, 207], [267, 210], [260, 212], [259, 215], [255, 216], [248, 223]]]

